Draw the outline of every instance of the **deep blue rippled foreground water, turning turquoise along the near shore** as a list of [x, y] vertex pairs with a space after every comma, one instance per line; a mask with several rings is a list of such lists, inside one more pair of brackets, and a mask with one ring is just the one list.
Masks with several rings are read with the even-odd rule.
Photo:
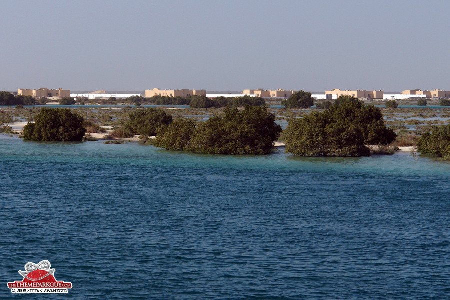
[[[1, 299], [450, 297], [447, 162], [0, 149]], [[11, 294], [43, 259], [69, 294]]]

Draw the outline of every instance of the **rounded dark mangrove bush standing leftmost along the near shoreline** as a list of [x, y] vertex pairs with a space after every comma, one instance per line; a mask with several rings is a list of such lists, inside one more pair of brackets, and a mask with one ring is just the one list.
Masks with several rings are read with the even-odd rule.
[[34, 119], [23, 128], [25, 140], [79, 141], [86, 133], [84, 119], [68, 108], [42, 108]]

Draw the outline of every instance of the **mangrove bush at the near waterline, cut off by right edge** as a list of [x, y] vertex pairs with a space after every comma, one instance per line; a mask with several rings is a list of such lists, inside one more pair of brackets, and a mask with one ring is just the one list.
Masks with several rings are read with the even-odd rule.
[[434, 154], [450, 160], [450, 124], [432, 126], [417, 141], [417, 151], [422, 154]]

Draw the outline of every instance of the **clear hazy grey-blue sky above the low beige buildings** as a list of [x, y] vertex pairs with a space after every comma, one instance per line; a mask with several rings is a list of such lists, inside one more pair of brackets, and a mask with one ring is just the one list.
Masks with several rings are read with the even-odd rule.
[[450, 90], [448, 0], [0, 4], [0, 90]]

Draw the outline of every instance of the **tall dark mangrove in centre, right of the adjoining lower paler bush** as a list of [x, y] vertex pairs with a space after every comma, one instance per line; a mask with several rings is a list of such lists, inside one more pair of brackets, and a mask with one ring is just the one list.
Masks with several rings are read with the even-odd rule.
[[282, 129], [265, 107], [226, 108], [223, 118], [200, 123], [187, 150], [207, 154], [267, 154]]

